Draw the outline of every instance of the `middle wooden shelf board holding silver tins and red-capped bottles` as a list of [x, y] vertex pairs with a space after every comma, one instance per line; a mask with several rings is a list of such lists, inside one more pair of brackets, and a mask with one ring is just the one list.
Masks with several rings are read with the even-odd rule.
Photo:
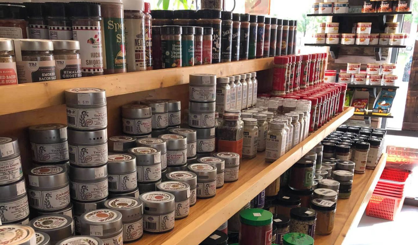
[[188, 217], [175, 221], [174, 230], [171, 232], [159, 235], [144, 234], [141, 240], [133, 244], [199, 244], [329, 133], [349, 119], [353, 112], [353, 107], [345, 108], [342, 113], [274, 163], [265, 162], [264, 152], [258, 153], [254, 159], [243, 159], [238, 181], [225, 183], [221, 189], [217, 189], [217, 194], [213, 198], [198, 199], [197, 203], [190, 208]]

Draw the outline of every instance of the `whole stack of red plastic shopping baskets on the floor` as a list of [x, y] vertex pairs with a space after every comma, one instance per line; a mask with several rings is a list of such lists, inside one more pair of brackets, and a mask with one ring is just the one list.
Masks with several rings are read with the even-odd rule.
[[373, 191], [366, 215], [394, 220], [405, 200], [405, 181], [409, 176], [408, 170], [385, 168]]

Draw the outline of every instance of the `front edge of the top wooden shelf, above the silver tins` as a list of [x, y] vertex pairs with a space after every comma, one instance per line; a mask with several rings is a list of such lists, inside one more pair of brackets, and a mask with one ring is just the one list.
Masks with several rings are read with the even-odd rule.
[[273, 57], [221, 64], [137, 71], [123, 74], [0, 86], [0, 115], [65, 104], [64, 90], [76, 87], [106, 89], [107, 97], [189, 83], [189, 74], [218, 77], [273, 68]]

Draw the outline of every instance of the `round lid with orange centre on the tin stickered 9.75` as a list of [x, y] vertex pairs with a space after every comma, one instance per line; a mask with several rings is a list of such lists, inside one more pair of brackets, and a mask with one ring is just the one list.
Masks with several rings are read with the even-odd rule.
[[122, 230], [122, 214], [111, 209], [97, 209], [82, 214], [81, 230], [96, 237], [112, 235]]

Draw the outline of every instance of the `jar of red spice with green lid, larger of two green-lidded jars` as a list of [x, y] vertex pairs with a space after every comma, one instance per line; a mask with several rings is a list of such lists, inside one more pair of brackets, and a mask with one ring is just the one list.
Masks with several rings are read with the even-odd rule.
[[240, 245], [271, 245], [273, 214], [264, 209], [240, 212]]

